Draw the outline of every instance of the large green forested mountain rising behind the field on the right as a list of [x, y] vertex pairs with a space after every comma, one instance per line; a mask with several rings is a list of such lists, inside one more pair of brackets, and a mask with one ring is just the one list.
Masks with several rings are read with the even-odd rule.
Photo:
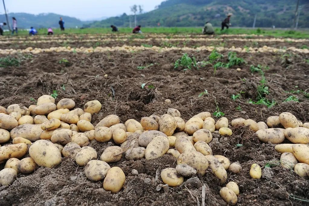
[[[203, 26], [206, 21], [214, 26], [221, 26], [226, 14], [231, 12], [233, 16], [230, 22], [233, 26], [252, 27], [254, 16], [257, 15], [256, 27], [275, 25], [277, 28], [289, 28], [294, 21], [296, 2], [297, 0], [167, 0], [155, 10], [137, 15], [137, 21], [142, 27], [153, 27], [158, 23], [166, 27]], [[300, 0], [299, 7], [298, 28], [309, 28], [309, 1]], [[111, 24], [128, 27], [129, 15], [124, 13], [84, 26], [109, 27]]]

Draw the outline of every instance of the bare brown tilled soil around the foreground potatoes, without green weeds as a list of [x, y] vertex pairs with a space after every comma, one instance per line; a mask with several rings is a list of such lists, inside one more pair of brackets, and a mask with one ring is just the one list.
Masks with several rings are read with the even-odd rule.
[[[238, 46], [236, 42], [233, 43]], [[278, 45], [275, 47], [278, 48]], [[41, 46], [47, 48], [51, 45]], [[86, 47], [85, 44], [83, 46]], [[210, 52], [188, 54], [195, 56], [197, 61], [203, 61], [207, 60]], [[227, 56], [227, 52], [223, 54]], [[118, 115], [122, 122], [129, 118], [140, 121], [151, 114], [162, 115], [168, 108], [178, 109], [186, 121], [202, 111], [213, 113], [217, 109], [215, 102], [229, 121], [242, 117], [266, 122], [269, 116], [287, 111], [300, 121], [309, 122], [309, 99], [302, 93], [286, 92], [308, 91], [309, 65], [305, 60], [309, 55], [290, 53], [289, 62], [283, 61], [282, 55], [237, 54], [247, 64], [229, 69], [218, 68], [215, 75], [212, 65], [198, 70], [174, 69], [173, 63], [182, 56], [181, 51], [27, 55], [19, 67], [0, 68], [0, 105], [7, 107], [21, 103], [28, 107], [35, 104], [31, 98], [37, 99], [58, 90], [56, 101], [72, 98], [76, 107], [83, 107], [89, 100], [99, 100], [102, 109], [93, 116], [94, 125], [109, 114]], [[70, 63], [59, 63], [62, 58]], [[137, 69], [138, 66], [150, 64], [153, 65]], [[265, 70], [269, 86], [267, 98], [278, 103], [272, 108], [248, 103], [250, 99], [255, 100], [256, 85], [260, 81], [260, 75], [251, 73], [249, 68], [258, 64], [269, 66], [269, 70]], [[237, 67], [242, 70], [237, 72]], [[105, 74], [108, 76], [104, 77]], [[147, 83], [145, 88], [141, 88], [143, 83]], [[150, 85], [154, 88], [148, 88]], [[208, 94], [198, 97], [205, 89]], [[244, 92], [242, 97], [231, 100], [231, 95], [240, 91]], [[284, 101], [290, 95], [296, 95], [299, 102]], [[167, 98], [171, 104], [164, 103]], [[242, 111], [236, 109], [238, 106]], [[305, 201], [309, 199], [308, 177], [299, 177], [294, 171], [278, 164], [265, 168], [269, 161], [280, 159], [274, 144], [260, 143], [254, 132], [246, 127], [231, 129], [233, 135], [230, 137], [213, 133], [210, 146], [214, 155], [224, 155], [231, 162], [239, 161], [243, 168], [239, 174], [227, 171], [227, 182], [235, 181], [239, 185], [238, 205], [308, 204]], [[289, 141], [285, 140], [285, 143]], [[243, 146], [236, 147], [236, 144]], [[106, 147], [112, 145], [113, 142], [98, 143], [94, 140], [88, 146], [95, 148], [99, 157]], [[252, 179], [249, 175], [253, 163], [262, 167], [263, 176], [260, 180]], [[110, 165], [124, 171], [125, 185], [120, 192], [111, 194], [104, 191], [102, 181], [91, 182], [86, 178], [83, 167], [77, 166], [74, 160], [63, 158], [54, 169], [42, 167], [33, 174], [19, 174], [11, 186], [0, 187], [0, 205], [201, 205], [204, 184], [205, 205], [227, 205], [219, 195], [222, 185], [211, 170], [203, 177], [185, 179], [183, 185], [170, 188], [169, 192], [156, 191], [157, 185], [162, 184], [160, 177], [156, 178], [157, 170], [175, 167], [176, 164], [176, 159], [169, 155], [152, 161], [126, 161], [123, 157], [121, 161]], [[3, 167], [4, 164], [0, 165], [0, 169]], [[132, 174], [132, 169], [139, 174]]]

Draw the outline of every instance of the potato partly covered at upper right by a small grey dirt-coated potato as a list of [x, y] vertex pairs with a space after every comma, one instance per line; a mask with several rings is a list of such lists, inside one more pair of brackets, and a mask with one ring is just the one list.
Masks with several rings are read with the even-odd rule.
[[178, 187], [184, 182], [184, 177], [180, 176], [175, 168], [165, 168], [161, 171], [161, 179], [169, 187]]

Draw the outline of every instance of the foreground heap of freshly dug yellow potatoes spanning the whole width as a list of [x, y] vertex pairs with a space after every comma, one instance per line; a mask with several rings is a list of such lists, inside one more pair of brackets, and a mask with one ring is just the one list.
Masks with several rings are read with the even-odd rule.
[[[214, 155], [209, 145], [215, 131], [223, 136], [232, 135], [225, 117], [215, 121], [209, 112], [201, 112], [185, 122], [177, 109], [170, 108], [161, 117], [153, 114], [140, 122], [129, 119], [124, 124], [111, 114], [94, 126], [92, 115], [100, 109], [97, 100], [88, 101], [81, 109], [75, 108], [72, 99], [61, 99], [56, 104], [49, 95], [39, 97], [37, 104], [28, 108], [20, 104], [0, 106], [0, 143], [12, 139], [12, 144], [0, 147], [0, 161], [6, 162], [5, 169], [0, 171], [0, 184], [12, 184], [18, 173], [30, 174], [38, 166], [54, 168], [62, 158], [74, 159], [85, 167], [88, 179], [104, 180], [103, 188], [112, 193], [121, 190], [125, 174], [108, 163], [123, 157], [151, 161], [165, 154], [174, 156], [176, 168], [165, 168], [160, 175], [170, 187], [180, 186], [186, 178], [197, 174], [203, 176], [209, 169], [225, 184], [227, 170], [232, 174], [242, 170], [239, 162], [231, 163], [222, 155]], [[284, 168], [294, 169], [302, 177], [309, 175], [309, 123], [283, 112], [269, 117], [267, 123], [243, 118], [231, 121], [231, 127], [239, 125], [255, 131], [261, 142], [277, 144], [275, 149], [282, 153], [280, 163]], [[280, 144], [285, 138], [293, 144]], [[90, 141], [113, 141], [118, 146], [106, 148], [98, 160], [96, 150], [87, 146]], [[21, 159], [27, 152], [30, 157]], [[250, 176], [261, 178], [260, 165], [251, 166]], [[238, 194], [235, 182], [228, 182], [220, 190], [222, 198], [231, 205], [237, 203]]]

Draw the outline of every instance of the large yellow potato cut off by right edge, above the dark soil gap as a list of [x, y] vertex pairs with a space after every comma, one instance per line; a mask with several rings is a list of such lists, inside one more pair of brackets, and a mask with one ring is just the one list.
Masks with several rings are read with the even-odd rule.
[[286, 139], [295, 144], [309, 143], [309, 129], [305, 127], [286, 128], [284, 135]]

